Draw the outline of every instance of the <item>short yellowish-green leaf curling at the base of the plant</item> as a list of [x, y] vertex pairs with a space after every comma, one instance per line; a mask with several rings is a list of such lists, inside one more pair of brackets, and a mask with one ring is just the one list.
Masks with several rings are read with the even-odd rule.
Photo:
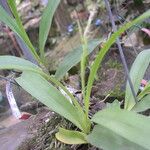
[[86, 134], [79, 131], [71, 131], [59, 128], [56, 138], [65, 144], [85, 144], [87, 143]]

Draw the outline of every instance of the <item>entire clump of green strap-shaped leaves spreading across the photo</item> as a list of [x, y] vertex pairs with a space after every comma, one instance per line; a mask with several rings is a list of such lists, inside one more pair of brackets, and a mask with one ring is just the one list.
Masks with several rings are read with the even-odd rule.
[[[57, 72], [56, 76], [49, 75], [44, 67], [45, 42], [51, 26], [53, 14], [59, 2], [60, 0], [49, 0], [42, 15], [39, 32], [40, 56], [36, 53], [22, 26], [15, 2], [8, 0], [15, 19], [10, 17], [0, 6], [0, 21], [8, 25], [24, 41], [34, 58], [39, 63], [37, 66], [23, 58], [0, 56], [0, 69], [14, 69], [21, 71], [22, 74], [15, 79], [16, 82], [36, 99], [44, 103], [57, 114], [72, 122], [78, 128], [78, 130], [60, 128], [59, 132], [56, 134], [58, 140], [66, 144], [91, 143], [99, 148], [102, 147], [105, 150], [150, 149], [150, 120], [146, 116], [139, 115], [135, 112], [135, 108], [138, 108], [138, 111], [140, 111], [141, 108], [143, 110], [149, 107], [149, 95], [144, 95], [142, 98], [140, 97], [140, 99], [138, 99], [139, 102], [135, 103], [130, 87], [127, 84], [124, 109], [120, 109], [119, 103], [114, 103], [112, 106], [97, 112], [92, 119], [90, 119], [88, 115], [92, 85], [104, 56], [112, 44], [115, 43], [117, 37], [133, 25], [150, 17], [150, 11], [147, 11], [135, 20], [120, 27], [119, 30], [112, 34], [112, 36], [105, 42], [101, 50], [98, 52], [93, 64], [90, 66], [90, 75], [87, 86], [85, 87], [84, 76], [86, 57], [89, 52], [92, 51], [94, 46], [89, 48], [90, 46], [87, 44], [86, 38], [82, 35], [82, 53], [81, 51], [76, 51], [74, 52], [75, 55], [70, 54], [70, 57], [67, 57], [62, 63], [63, 65], [58, 69], [59, 72]], [[97, 43], [95, 46], [97, 46]], [[138, 92], [141, 79], [150, 63], [149, 58], [150, 50], [144, 50], [138, 55], [131, 68], [130, 76], [136, 93]], [[79, 61], [81, 61], [84, 107], [79, 104], [78, 100], [58, 80], [58, 77], [61, 77], [62, 73], [64, 75], [68, 69]], [[68, 98], [58, 90], [58, 88], [64, 90], [67, 96], [71, 99], [71, 103]], [[93, 123], [96, 125], [92, 129], [91, 124]]]

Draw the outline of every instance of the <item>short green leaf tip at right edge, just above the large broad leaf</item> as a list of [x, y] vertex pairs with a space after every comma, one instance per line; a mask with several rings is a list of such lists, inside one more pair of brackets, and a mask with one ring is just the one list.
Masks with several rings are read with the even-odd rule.
[[150, 108], [150, 94], [146, 95], [142, 98], [134, 107], [132, 108], [133, 111], [142, 112]]

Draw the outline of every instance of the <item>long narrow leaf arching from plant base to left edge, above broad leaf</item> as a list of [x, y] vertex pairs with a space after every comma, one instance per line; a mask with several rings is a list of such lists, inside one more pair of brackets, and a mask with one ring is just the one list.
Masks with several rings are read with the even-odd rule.
[[[24, 60], [24, 59], [19, 58], [19, 57], [0, 56], [0, 69], [15, 69], [15, 70], [19, 70], [22, 72], [23, 71], [30, 71], [30, 72], [35, 73], [37, 75], [38, 74], [41, 75], [46, 80], [51, 81], [57, 87], [61, 87], [66, 92], [66, 94], [71, 98], [71, 100], [73, 101], [73, 104], [74, 104], [74, 107], [76, 109], [77, 114], [80, 114], [78, 117], [78, 120], [80, 120], [79, 121], [80, 123], [82, 122], [81, 123], [82, 128], [80, 128], [79, 126], [78, 127], [81, 130], [83, 130], [85, 133], [89, 132], [90, 120], [86, 119], [85, 113], [83, 112], [82, 107], [80, 106], [80, 104], [78, 103], [76, 98], [71, 93], [69, 93], [69, 91], [59, 81], [57, 81], [54, 77], [49, 76], [46, 73], [44, 73], [40, 67], [31, 63], [30, 61]], [[40, 84], [40, 81], [37, 80], [37, 82], [39, 82], [38, 84]]]

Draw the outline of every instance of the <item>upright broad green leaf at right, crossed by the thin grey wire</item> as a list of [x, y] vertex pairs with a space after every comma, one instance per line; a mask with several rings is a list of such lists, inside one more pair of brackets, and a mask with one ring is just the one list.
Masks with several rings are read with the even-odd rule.
[[[142, 51], [137, 56], [137, 58], [135, 59], [131, 67], [130, 77], [136, 94], [139, 91], [140, 83], [143, 79], [143, 76], [149, 64], [150, 64], [150, 49]], [[134, 97], [131, 92], [129, 83], [127, 83], [126, 94], [125, 94], [125, 109], [131, 110], [134, 107], [134, 105], [135, 105]]]

